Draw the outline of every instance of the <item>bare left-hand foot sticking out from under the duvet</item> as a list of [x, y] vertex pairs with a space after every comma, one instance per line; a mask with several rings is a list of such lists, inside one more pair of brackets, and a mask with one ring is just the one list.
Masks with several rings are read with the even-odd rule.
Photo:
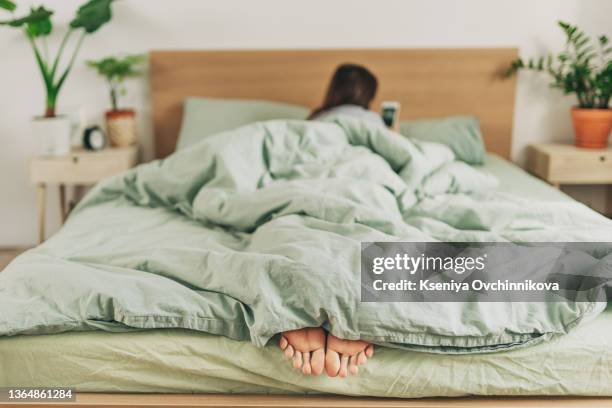
[[293, 367], [305, 375], [320, 375], [325, 367], [325, 332], [320, 327], [291, 330], [281, 334], [280, 348]]

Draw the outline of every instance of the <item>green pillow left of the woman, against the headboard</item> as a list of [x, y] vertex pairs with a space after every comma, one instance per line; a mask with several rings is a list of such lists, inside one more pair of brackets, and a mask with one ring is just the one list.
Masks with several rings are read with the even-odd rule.
[[176, 150], [249, 123], [273, 119], [306, 119], [309, 113], [306, 107], [286, 103], [190, 97], [185, 100]]

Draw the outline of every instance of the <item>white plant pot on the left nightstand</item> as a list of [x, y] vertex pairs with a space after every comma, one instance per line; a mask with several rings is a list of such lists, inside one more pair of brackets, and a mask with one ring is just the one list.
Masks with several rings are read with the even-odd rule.
[[70, 153], [70, 120], [63, 116], [35, 118], [32, 135], [41, 156], [65, 156]]

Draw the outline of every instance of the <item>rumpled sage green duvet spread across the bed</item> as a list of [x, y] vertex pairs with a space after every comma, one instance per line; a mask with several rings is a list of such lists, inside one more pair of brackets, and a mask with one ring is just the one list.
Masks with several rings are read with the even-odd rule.
[[325, 326], [432, 352], [564, 334], [605, 305], [362, 303], [360, 242], [612, 241], [574, 202], [525, 200], [443, 145], [366, 123], [273, 121], [99, 184], [0, 274], [0, 335], [183, 328], [265, 345]]

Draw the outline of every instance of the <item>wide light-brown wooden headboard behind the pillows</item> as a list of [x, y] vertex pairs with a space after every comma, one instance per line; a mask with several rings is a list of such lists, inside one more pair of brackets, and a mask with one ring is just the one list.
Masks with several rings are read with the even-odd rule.
[[367, 66], [379, 80], [373, 109], [402, 104], [402, 119], [470, 114], [487, 150], [510, 157], [515, 80], [500, 72], [515, 48], [153, 51], [150, 80], [155, 155], [174, 151], [189, 96], [265, 99], [314, 108], [336, 66]]

